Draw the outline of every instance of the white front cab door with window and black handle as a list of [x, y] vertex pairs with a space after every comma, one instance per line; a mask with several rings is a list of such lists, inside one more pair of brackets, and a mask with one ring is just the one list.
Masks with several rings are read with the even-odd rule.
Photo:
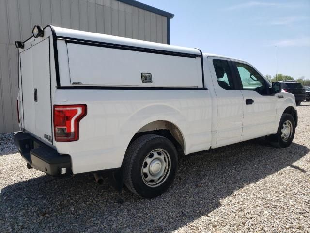
[[273, 133], [277, 112], [277, 96], [271, 95], [269, 83], [252, 66], [232, 62], [244, 100], [241, 141]]

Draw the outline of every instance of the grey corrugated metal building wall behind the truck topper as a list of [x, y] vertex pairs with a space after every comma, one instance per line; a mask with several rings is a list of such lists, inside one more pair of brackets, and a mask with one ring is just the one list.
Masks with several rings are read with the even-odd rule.
[[0, 0], [0, 133], [19, 130], [14, 42], [35, 24], [167, 43], [167, 17], [117, 0]]

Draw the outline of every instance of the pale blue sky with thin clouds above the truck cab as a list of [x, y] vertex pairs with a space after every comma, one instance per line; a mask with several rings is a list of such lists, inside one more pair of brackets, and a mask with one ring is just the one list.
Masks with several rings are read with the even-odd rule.
[[310, 0], [138, 0], [173, 13], [171, 45], [310, 79]]

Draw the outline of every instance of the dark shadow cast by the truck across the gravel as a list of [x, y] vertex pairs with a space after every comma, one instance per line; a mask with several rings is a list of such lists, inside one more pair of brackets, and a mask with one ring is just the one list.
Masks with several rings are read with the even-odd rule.
[[275, 149], [262, 138], [202, 151], [180, 159], [167, 193], [147, 200], [124, 188], [123, 204], [116, 203], [119, 194], [107, 180], [98, 185], [91, 175], [63, 179], [42, 175], [2, 189], [0, 229], [170, 232], [217, 209], [220, 200], [236, 190], [287, 166], [308, 172], [292, 164], [309, 151], [295, 143]]

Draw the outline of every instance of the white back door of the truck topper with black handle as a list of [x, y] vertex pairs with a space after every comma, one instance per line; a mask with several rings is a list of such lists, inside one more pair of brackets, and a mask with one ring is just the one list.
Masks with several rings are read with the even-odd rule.
[[19, 53], [22, 127], [52, 143], [49, 37]]

